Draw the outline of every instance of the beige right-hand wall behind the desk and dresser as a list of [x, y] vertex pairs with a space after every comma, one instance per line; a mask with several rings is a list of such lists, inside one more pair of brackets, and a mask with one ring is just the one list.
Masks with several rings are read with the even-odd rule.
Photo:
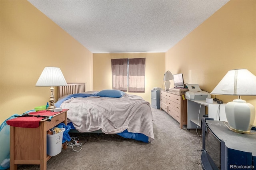
[[[229, 70], [239, 68], [256, 75], [254, 0], [231, 0], [166, 52], [166, 69], [183, 73], [186, 83], [197, 83], [208, 92]], [[217, 98], [229, 102], [237, 96]], [[242, 99], [256, 107], [255, 96]]]

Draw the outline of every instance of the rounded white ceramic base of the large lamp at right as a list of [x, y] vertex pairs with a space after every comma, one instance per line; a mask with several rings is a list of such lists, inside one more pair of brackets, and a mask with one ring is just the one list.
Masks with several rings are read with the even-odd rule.
[[255, 119], [255, 109], [245, 100], [235, 99], [225, 107], [230, 129], [234, 132], [249, 134]]

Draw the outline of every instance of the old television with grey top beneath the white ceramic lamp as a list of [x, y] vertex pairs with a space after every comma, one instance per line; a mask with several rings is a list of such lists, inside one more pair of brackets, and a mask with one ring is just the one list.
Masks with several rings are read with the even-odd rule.
[[233, 132], [222, 121], [202, 117], [202, 169], [255, 170], [255, 139]]

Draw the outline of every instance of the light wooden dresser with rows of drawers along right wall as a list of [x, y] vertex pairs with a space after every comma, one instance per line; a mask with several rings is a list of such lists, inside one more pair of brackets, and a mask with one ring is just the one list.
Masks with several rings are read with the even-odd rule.
[[170, 88], [169, 91], [160, 90], [160, 110], [166, 111], [180, 123], [180, 128], [187, 125], [187, 100], [185, 93], [188, 89]]

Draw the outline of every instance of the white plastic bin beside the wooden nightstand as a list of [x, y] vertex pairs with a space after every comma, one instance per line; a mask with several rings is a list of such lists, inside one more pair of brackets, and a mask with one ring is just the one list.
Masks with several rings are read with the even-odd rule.
[[65, 128], [56, 134], [47, 134], [47, 154], [49, 156], [56, 156], [62, 149], [62, 138]]

